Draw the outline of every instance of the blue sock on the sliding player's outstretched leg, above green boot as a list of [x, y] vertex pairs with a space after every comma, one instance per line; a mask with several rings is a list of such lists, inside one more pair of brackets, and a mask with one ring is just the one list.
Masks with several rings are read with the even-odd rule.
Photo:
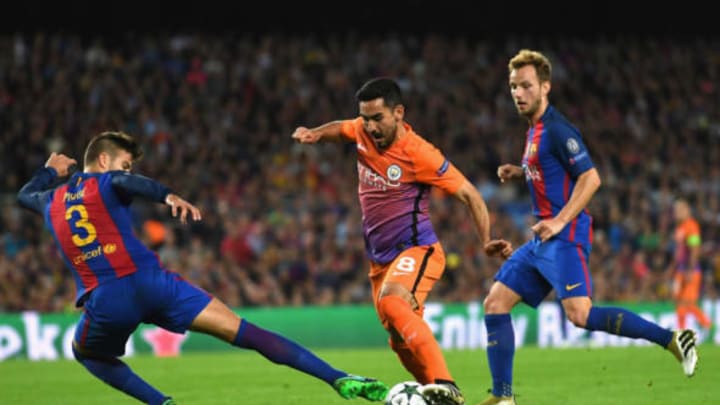
[[233, 344], [244, 349], [252, 349], [268, 360], [284, 364], [303, 373], [317, 377], [326, 383], [332, 383], [346, 372], [332, 368], [312, 352], [299, 344], [278, 334], [258, 328], [252, 323], [242, 320]]

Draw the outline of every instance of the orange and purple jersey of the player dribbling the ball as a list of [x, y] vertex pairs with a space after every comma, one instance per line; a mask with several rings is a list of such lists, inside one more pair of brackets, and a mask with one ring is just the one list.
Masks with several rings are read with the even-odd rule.
[[454, 194], [465, 181], [430, 142], [403, 123], [406, 133], [378, 150], [362, 118], [343, 121], [342, 136], [357, 144], [358, 196], [367, 254], [387, 264], [411, 246], [437, 242], [429, 215], [432, 186]]

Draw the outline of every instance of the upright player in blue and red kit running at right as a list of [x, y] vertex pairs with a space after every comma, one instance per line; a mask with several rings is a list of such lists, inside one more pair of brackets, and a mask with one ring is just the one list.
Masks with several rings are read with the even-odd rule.
[[501, 182], [525, 178], [538, 222], [532, 227], [534, 238], [503, 263], [484, 301], [493, 387], [480, 405], [515, 404], [510, 310], [520, 301], [537, 307], [553, 289], [574, 325], [654, 342], [671, 351], [692, 376], [697, 363], [692, 330], [673, 332], [625, 309], [593, 305], [588, 268], [592, 218], [585, 207], [600, 187], [600, 176], [580, 132], [549, 104], [550, 61], [524, 49], [508, 70], [513, 101], [529, 129], [522, 166], [505, 164], [497, 174]]

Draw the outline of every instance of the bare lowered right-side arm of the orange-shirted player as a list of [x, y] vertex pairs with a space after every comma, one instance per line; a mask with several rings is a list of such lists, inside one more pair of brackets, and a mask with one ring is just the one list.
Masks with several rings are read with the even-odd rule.
[[490, 239], [490, 216], [487, 205], [480, 192], [469, 181], [465, 180], [455, 198], [462, 201], [470, 210], [475, 227], [480, 235], [480, 243], [488, 256], [499, 256], [508, 258], [512, 254], [512, 244], [502, 239]]

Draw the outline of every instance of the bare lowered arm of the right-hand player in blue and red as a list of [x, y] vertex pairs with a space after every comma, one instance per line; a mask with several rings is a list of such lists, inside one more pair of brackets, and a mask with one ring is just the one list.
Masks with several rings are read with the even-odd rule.
[[581, 174], [572, 195], [570, 195], [570, 200], [563, 209], [554, 218], [542, 220], [533, 225], [532, 231], [543, 242], [560, 233], [568, 222], [572, 221], [580, 211], [585, 209], [592, 196], [600, 188], [600, 183], [600, 175], [595, 168]]

